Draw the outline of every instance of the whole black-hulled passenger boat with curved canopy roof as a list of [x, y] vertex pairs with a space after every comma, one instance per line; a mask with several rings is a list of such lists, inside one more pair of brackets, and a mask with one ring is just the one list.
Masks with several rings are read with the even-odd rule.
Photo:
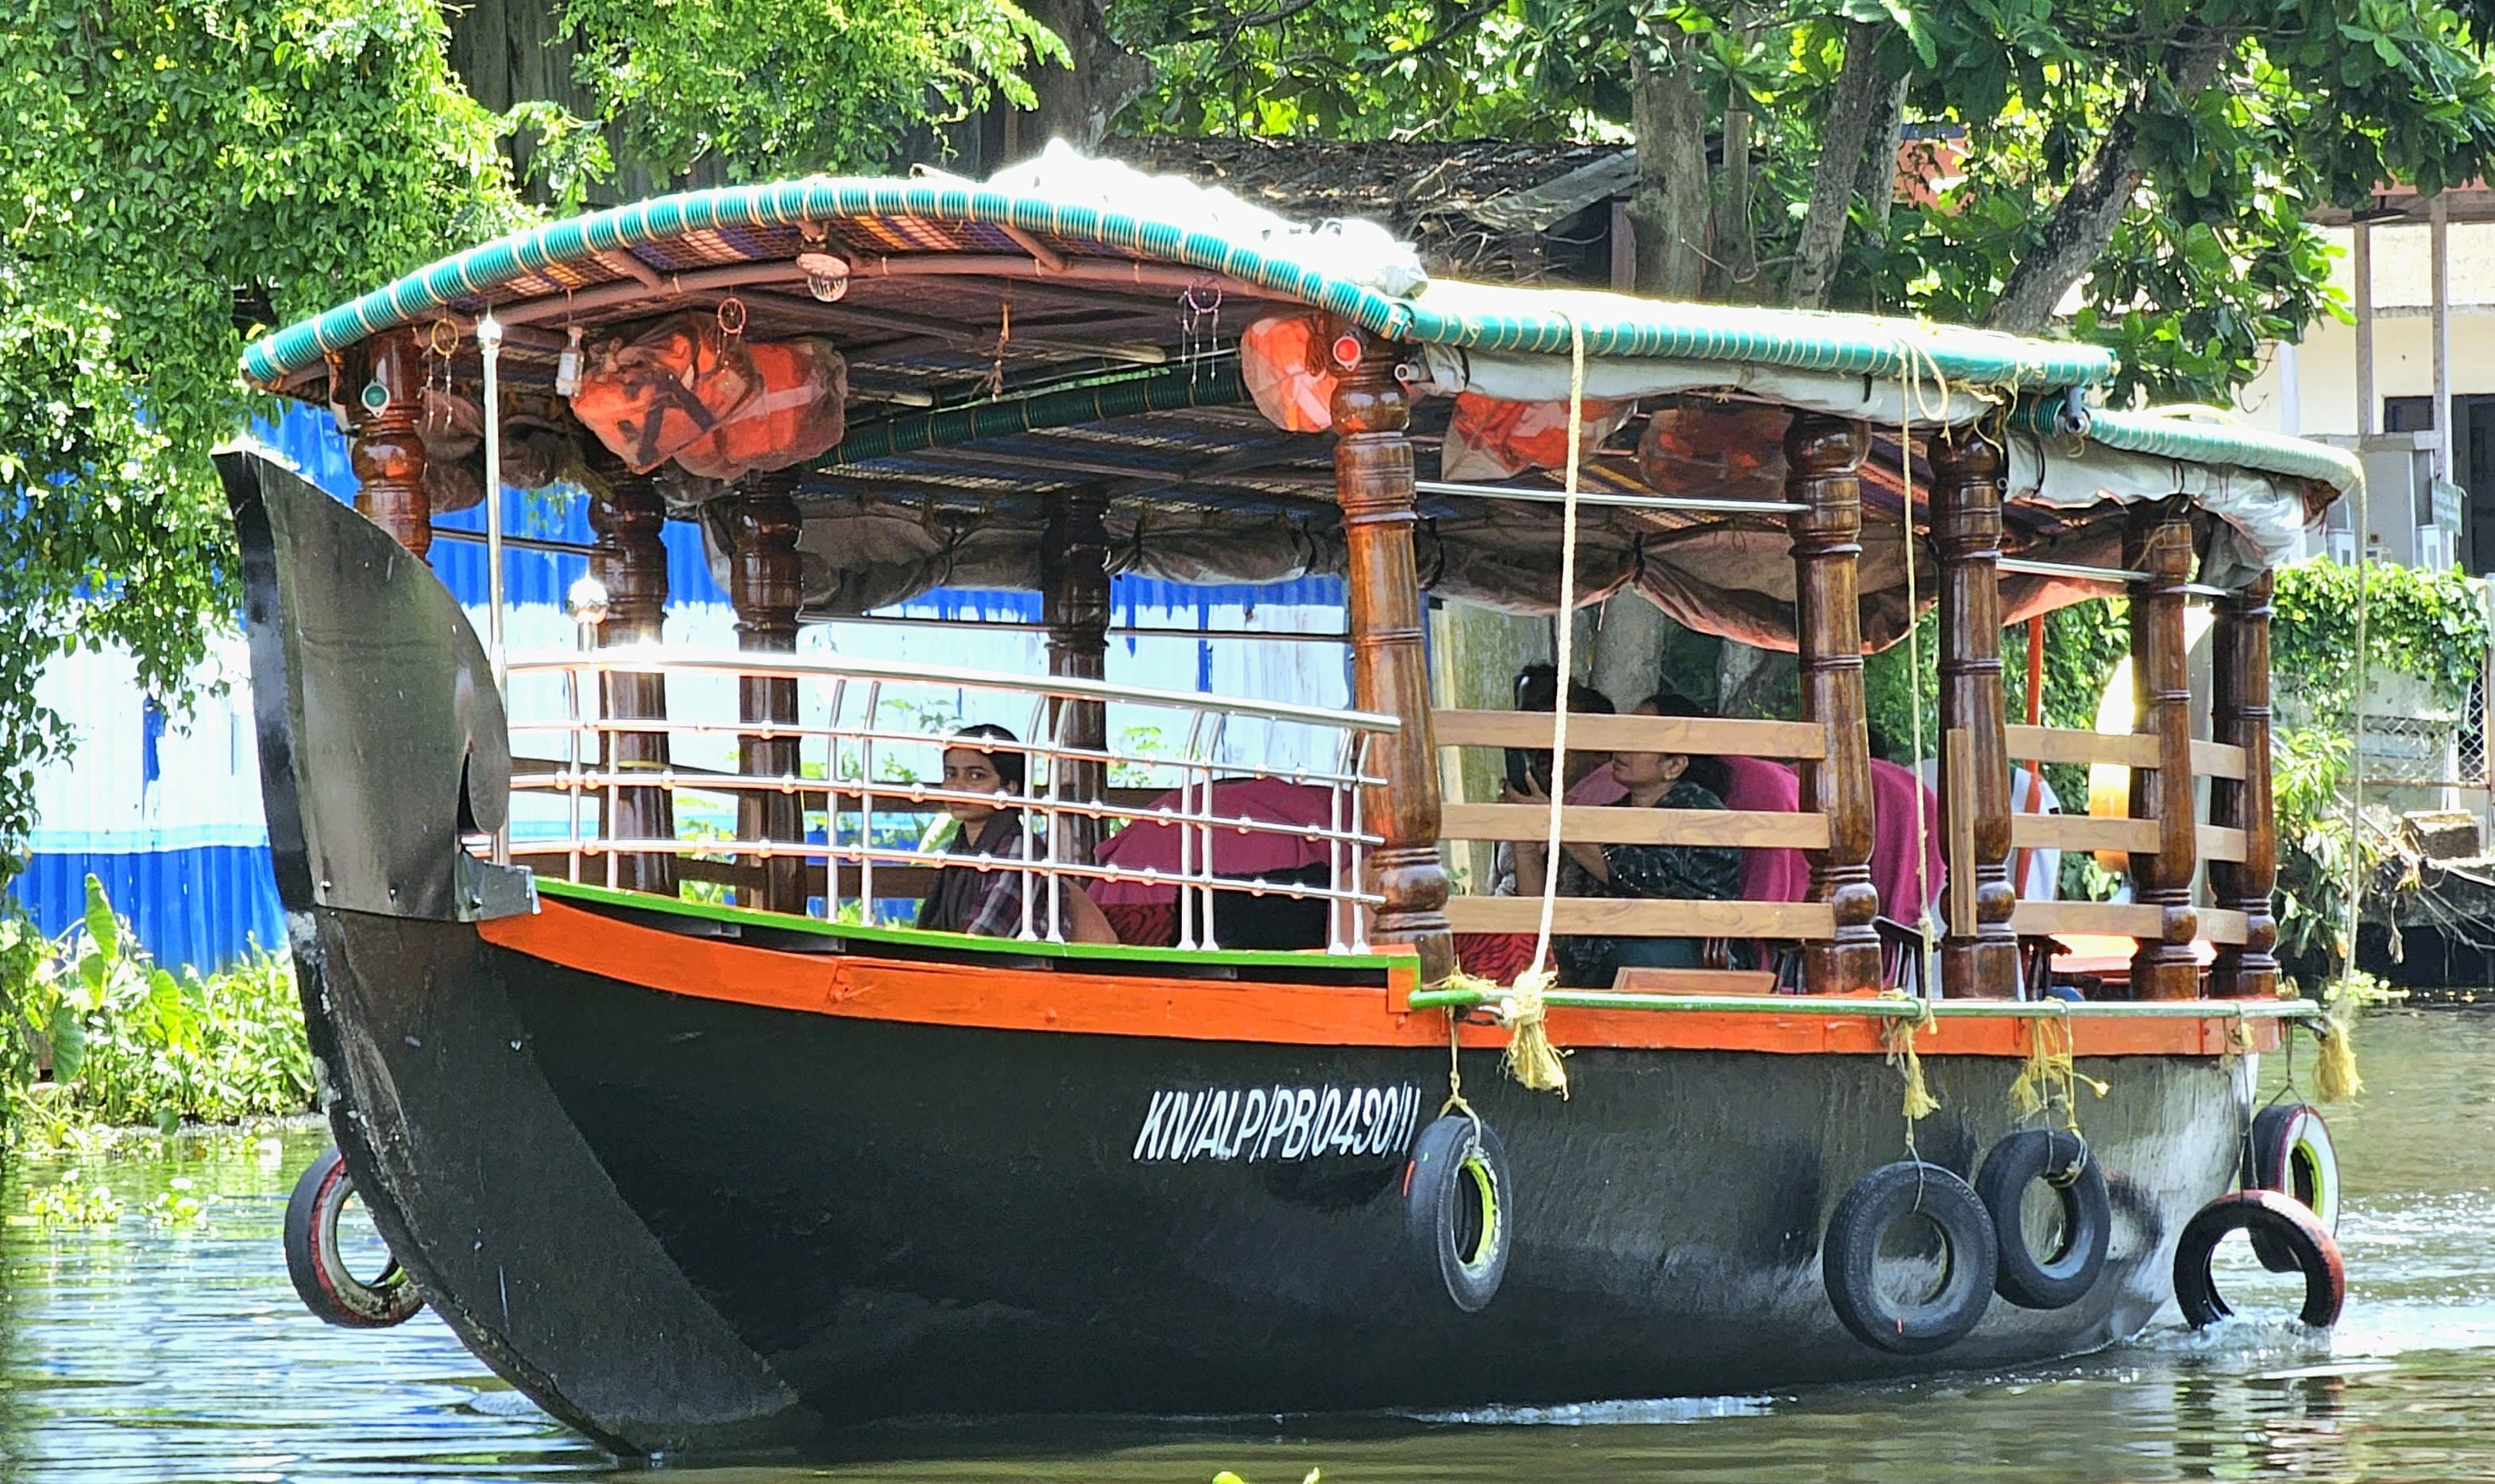
[[[2358, 469], [2093, 407], [2111, 374], [1432, 282], [1380, 229], [1110, 167], [676, 195], [274, 332], [245, 377], [334, 407], [362, 479], [349, 509], [225, 459], [344, 1172], [462, 1342], [629, 1452], [1724, 1394], [2131, 1337], [2246, 1180], [2255, 1058], [2315, 1018], [2270, 953], [2268, 569]], [[596, 501], [604, 591], [576, 648], [509, 653], [427, 566], [434, 516], [556, 474]], [[661, 641], [664, 521], [699, 521], [739, 651]], [[1115, 571], [1340, 576], [1352, 706], [1103, 678]], [[1050, 673], [801, 643], [933, 584], [1043, 591]], [[1450, 850], [1549, 816], [1455, 798], [1442, 761], [1552, 748], [1557, 718], [1432, 696], [1425, 601], [1632, 586], [1794, 651], [1799, 716], [1574, 716], [1569, 746], [1784, 758], [1801, 808], [1569, 808], [1567, 838], [1791, 848], [1809, 885], [1552, 903], [1559, 935], [1761, 940], [1766, 968], [1460, 975], [1542, 903], [1450, 895]], [[2003, 626], [2103, 594], [2136, 731], [2011, 726]], [[1931, 606], [1944, 925], [1884, 953], [1876, 918], [1921, 913], [1869, 870], [1864, 653]], [[893, 721], [913, 686], [1020, 718], [1045, 838], [983, 863], [1020, 883], [1003, 935], [893, 908], [963, 863], [918, 841], [966, 796]], [[2018, 813], [2013, 758], [2128, 766], [2128, 818]], [[1153, 850], [1110, 848], [1130, 831]], [[2128, 900], [2016, 900], [2013, 846], [2128, 850]], [[1130, 940], [1068, 940], [1075, 885]], [[2066, 933], [2136, 940], [2128, 978], [2053, 990]], [[1524, 1035], [1564, 1097], [1502, 1067]], [[2013, 1082], [2068, 1058], [2106, 1092], [2021, 1115]], [[1936, 1110], [1909, 1120], [1909, 1082]]]

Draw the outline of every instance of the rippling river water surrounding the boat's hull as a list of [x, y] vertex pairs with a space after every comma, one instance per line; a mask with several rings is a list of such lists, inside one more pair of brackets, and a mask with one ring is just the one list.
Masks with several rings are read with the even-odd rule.
[[[2365, 1023], [2370, 1092], [2333, 1112], [2348, 1317], [2328, 1342], [2278, 1314], [2290, 1282], [2223, 1252], [2248, 1314], [2206, 1334], [2001, 1377], [1420, 1419], [1065, 1424], [886, 1437], [908, 1462], [681, 1469], [796, 1479], [1115, 1479], [1235, 1469], [1340, 1482], [2495, 1479], [2495, 1013]], [[2275, 1067], [2273, 1067], [2275, 1070]], [[90, 1165], [112, 1227], [0, 1210], [0, 1472], [7, 1479], [544, 1479], [614, 1462], [492, 1379], [432, 1317], [329, 1329], [287, 1287], [289, 1177], [324, 1142], [182, 1142]], [[175, 1180], [190, 1185], [180, 1192]], [[160, 1195], [205, 1202], [150, 1217]], [[2241, 1242], [2241, 1240], [2238, 1240]]]

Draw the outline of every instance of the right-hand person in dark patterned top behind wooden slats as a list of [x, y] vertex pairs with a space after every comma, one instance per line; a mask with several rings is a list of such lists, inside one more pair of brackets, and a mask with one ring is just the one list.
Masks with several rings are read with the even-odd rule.
[[[1662, 698], [1644, 701], [1637, 716], [1662, 716]], [[1684, 753], [1614, 753], [1612, 781], [1622, 788], [1622, 808], [1724, 808], [1707, 786], [1689, 778]], [[1527, 781], [1532, 783], [1532, 781]], [[1529, 788], [1527, 803], [1549, 803]], [[1517, 878], [1539, 880], [1544, 848], [1517, 843]], [[1742, 885], [1742, 850], [1734, 846], [1562, 846], [1559, 895], [1632, 900], [1732, 900]], [[1612, 988], [1627, 965], [1699, 968], [1697, 938], [1559, 938], [1559, 983], [1574, 988]]]

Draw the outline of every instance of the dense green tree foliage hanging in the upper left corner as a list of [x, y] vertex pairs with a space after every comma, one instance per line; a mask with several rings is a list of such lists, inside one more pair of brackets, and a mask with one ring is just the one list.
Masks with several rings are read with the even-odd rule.
[[180, 698], [230, 624], [207, 451], [242, 342], [521, 219], [432, 0], [20, 0], [0, 25], [0, 848], [120, 643]]

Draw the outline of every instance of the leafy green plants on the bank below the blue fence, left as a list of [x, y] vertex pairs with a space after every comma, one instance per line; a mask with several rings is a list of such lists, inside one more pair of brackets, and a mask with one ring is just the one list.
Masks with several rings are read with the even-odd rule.
[[10, 1132], [235, 1122], [312, 1105], [312, 1053], [292, 965], [274, 953], [197, 975], [160, 968], [87, 878], [87, 910], [45, 940], [0, 920], [12, 1023], [0, 1038]]

